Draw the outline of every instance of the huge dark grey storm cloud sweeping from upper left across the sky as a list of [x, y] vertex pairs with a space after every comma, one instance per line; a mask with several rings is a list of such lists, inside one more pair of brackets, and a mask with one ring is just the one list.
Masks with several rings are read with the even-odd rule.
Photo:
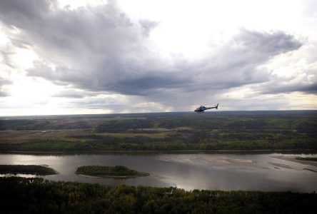
[[0, 1], [0, 19], [20, 29], [10, 38], [16, 46], [29, 47], [41, 57], [29, 76], [88, 91], [156, 95], [153, 98], [159, 101], [171, 91], [264, 83], [271, 80], [271, 73], [258, 66], [302, 45], [282, 31], [241, 29], [220, 51], [201, 61], [168, 63], [149, 50], [148, 36], [158, 24], [132, 21], [115, 1], [76, 10], [51, 2]]

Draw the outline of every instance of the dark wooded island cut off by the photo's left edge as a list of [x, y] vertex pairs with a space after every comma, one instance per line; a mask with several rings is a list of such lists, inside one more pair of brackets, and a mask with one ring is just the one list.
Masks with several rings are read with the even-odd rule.
[[43, 165], [0, 165], [0, 174], [55, 175], [57, 172]]

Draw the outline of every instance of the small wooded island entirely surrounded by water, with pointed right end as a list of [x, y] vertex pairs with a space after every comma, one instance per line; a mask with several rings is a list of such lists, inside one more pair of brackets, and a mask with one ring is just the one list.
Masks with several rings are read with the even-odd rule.
[[136, 178], [150, 175], [149, 173], [131, 170], [123, 165], [83, 165], [77, 168], [75, 173], [77, 175], [89, 175], [98, 178]]

